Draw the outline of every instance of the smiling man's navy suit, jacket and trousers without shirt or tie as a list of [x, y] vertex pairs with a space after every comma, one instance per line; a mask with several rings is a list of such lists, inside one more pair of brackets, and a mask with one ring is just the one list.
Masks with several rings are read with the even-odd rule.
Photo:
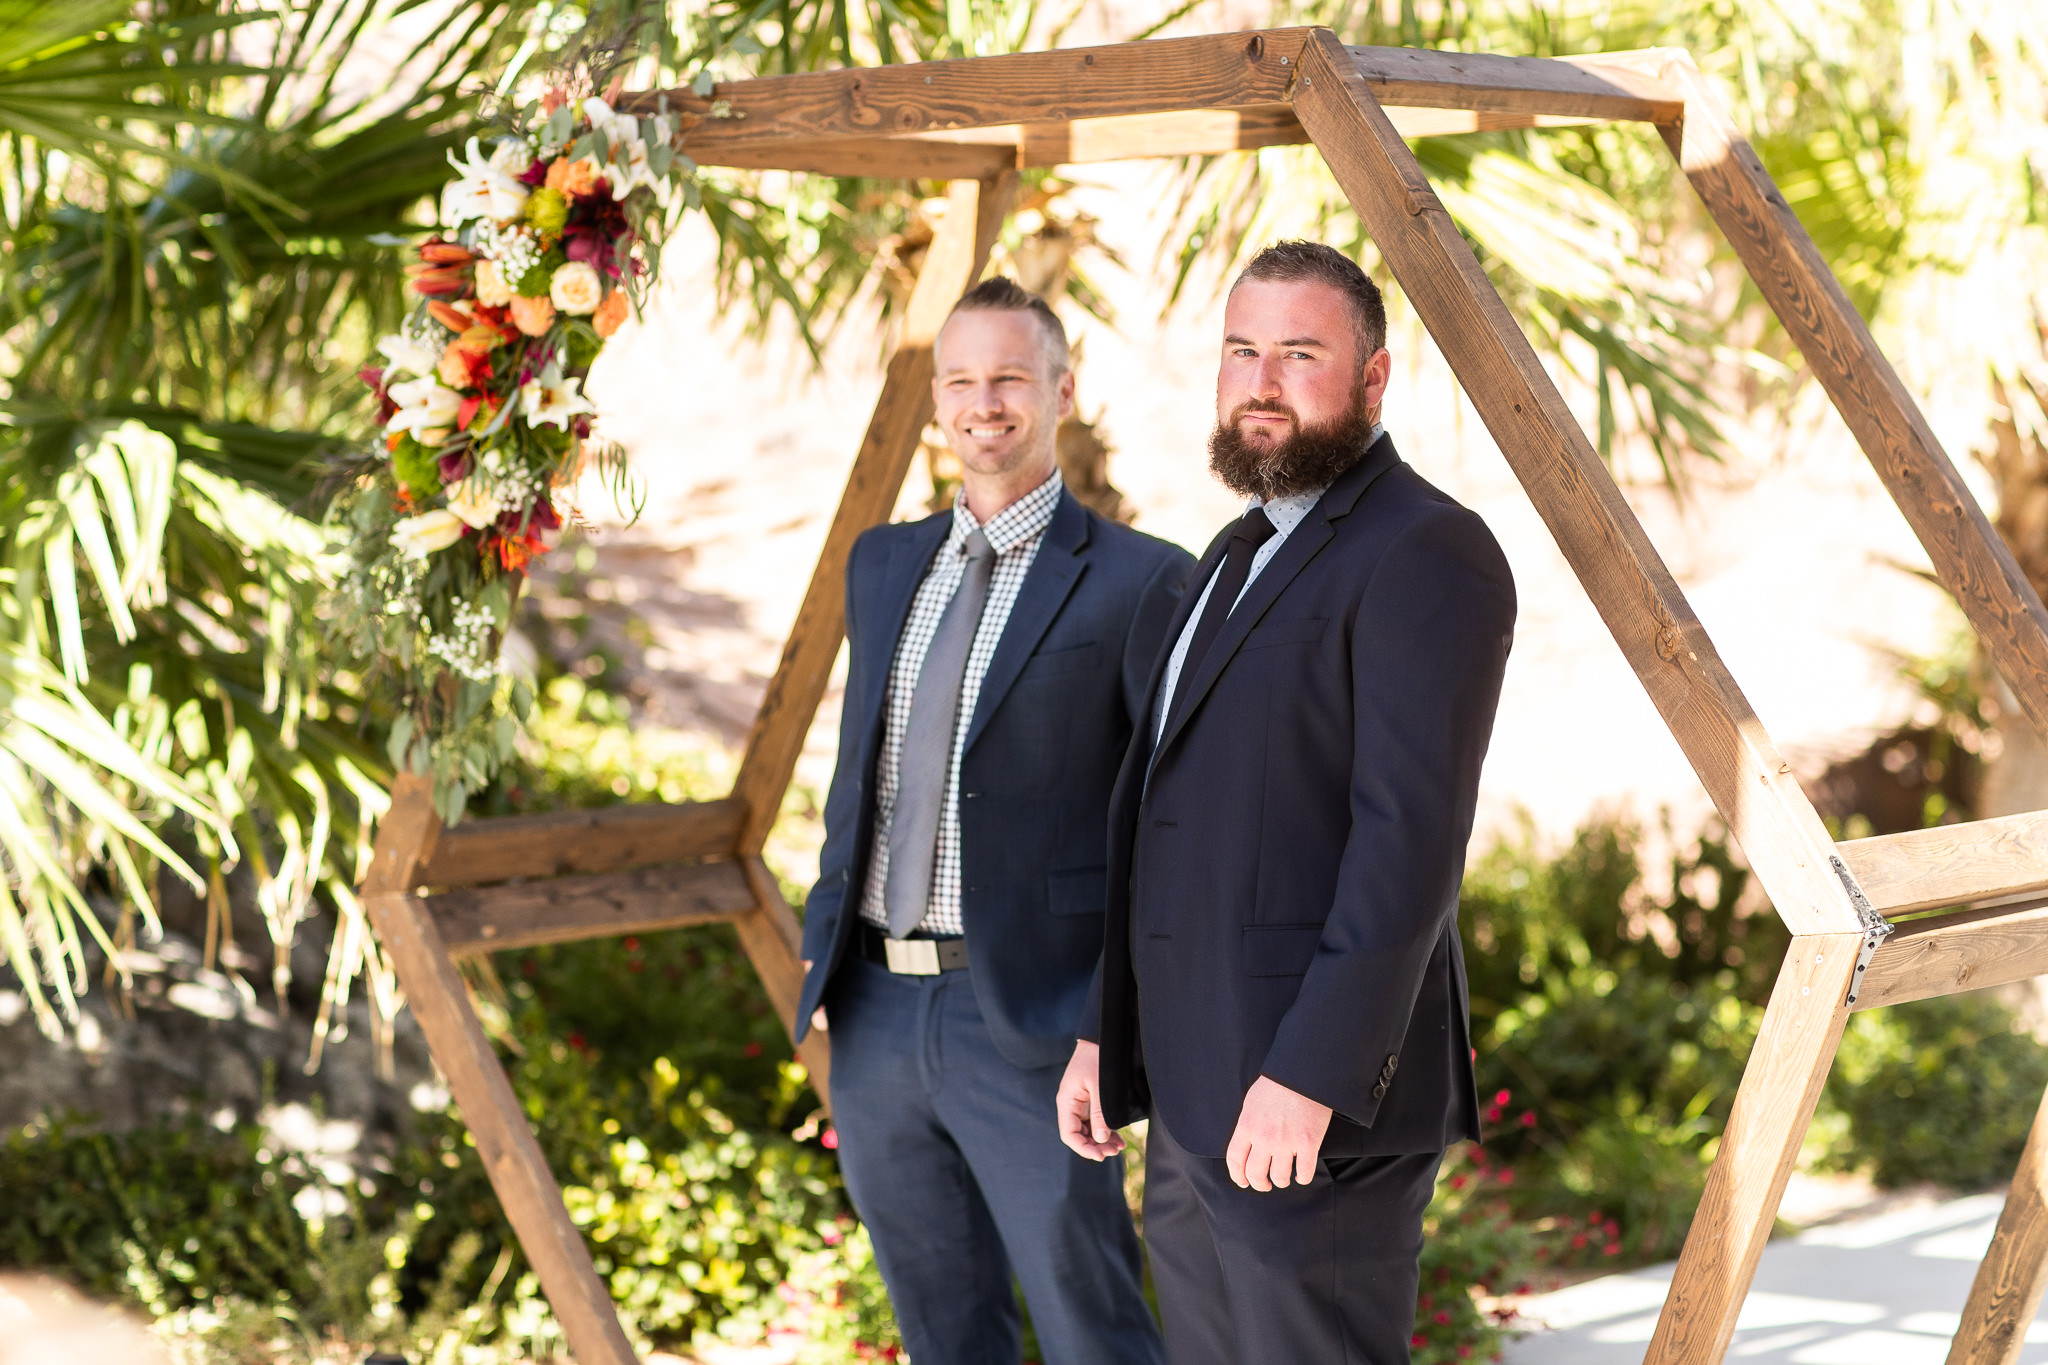
[[1061, 493], [967, 718], [969, 966], [899, 976], [858, 945], [889, 669], [952, 514], [879, 526], [846, 571], [850, 647], [797, 1009], [831, 1021], [854, 1207], [913, 1359], [1016, 1365], [1012, 1273], [1049, 1361], [1159, 1361], [1120, 1162], [1069, 1152], [1055, 1093], [1102, 952], [1106, 810], [1192, 569]]

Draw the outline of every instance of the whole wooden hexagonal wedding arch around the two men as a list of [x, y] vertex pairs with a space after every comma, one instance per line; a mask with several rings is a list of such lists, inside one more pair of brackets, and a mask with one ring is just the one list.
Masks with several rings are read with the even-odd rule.
[[[371, 921], [578, 1359], [633, 1355], [451, 954], [729, 921], [793, 1023], [797, 923], [760, 851], [840, 647], [846, 553], [895, 505], [932, 415], [932, 338], [981, 276], [1014, 172], [1315, 143], [1792, 929], [1645, 1357], [1720, 1361], [1849, 1013], [2048, 972], [2048, 812], [1829, 839], [1405, 137], [1653, 125], [2044, 731], [2048, 612], [1692, 59], [1346, 47], [1327, 29], [1274, 29], [778, 76], [668, 102], [700, 164], [952, 184], [731, 796], [442, 831], [406, 776], [379, 833]], [[1962, 909], [1896, 933], [1884, 919], [1939, 907]], [[825, 1040], [801, 1056], [825, 1095]], [[2048, 1101], [1952, 1365], [2017, 1359], [2044, 1283]]]

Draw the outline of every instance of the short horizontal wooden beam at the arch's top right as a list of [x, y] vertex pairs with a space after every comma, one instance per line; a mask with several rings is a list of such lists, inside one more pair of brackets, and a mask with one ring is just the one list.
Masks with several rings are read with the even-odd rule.
[[1346, 51], [1372, 98], [1386, 106], [1630, 123], [1671, 123], [1686, 113], [1686, 98], [1657, 76], [1602, 57], [1503, 57], [1425, 47]]

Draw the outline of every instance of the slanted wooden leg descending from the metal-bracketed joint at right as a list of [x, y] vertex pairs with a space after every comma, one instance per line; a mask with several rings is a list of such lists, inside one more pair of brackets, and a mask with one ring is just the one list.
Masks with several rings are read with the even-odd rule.
[[1718, 1365], [1849, 1021], [1858, 933], [1786, 950], [1642, 1365]]

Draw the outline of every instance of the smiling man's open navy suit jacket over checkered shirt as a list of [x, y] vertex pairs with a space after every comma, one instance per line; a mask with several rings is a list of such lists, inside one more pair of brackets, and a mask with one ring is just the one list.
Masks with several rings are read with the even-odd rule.
[[[805, 902], [797, 1038], [846, 960], [874, 829], [889, 665], [952, 512], [877, 526], [846, 565], [840, 763]], [[1061, 491], [981, 681], [961, 755], [961, 921], [989, 1036], [1014, 1066], [1065, 1064], [1102, 954], [1104, 810], [1192, 557]], [[1053, 1132], [1053, 1115], [1044, 1115]]]

